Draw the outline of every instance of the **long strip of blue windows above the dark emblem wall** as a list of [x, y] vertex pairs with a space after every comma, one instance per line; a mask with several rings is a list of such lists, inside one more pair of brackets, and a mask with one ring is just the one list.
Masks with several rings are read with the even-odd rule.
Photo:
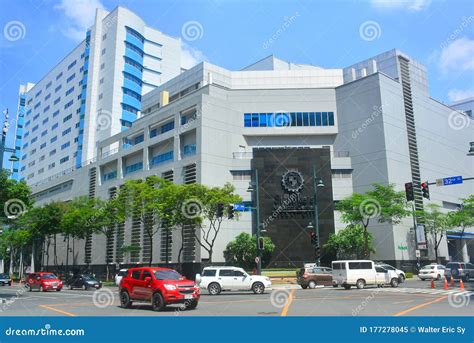
[[244, 113], [244, 127], [334, 126], [334, 112]]

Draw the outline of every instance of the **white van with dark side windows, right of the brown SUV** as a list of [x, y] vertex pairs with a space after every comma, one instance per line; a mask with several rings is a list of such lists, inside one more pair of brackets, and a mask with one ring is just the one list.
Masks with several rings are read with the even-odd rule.
[[335, 285], [340, 285], [345, 289], [350, 289], [351, 286], [361, 289], [366, 285], [381, 287], [388, 284], [398, 287], [396, 272], [377, 266], [370, 260], [334, 261], [332, 279]]

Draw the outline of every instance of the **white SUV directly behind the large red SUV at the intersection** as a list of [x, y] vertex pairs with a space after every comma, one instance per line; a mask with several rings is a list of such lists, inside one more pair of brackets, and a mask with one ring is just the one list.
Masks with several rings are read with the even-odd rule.
[[196, 275], [196, 284], [201, 289], [207, 289], [211, 295], [227, 290], [251, 290], [255, 294], [262, 294], [272, 286], [270, 278], [249, 275], [237, 267], [206, 267], [202, 274]]

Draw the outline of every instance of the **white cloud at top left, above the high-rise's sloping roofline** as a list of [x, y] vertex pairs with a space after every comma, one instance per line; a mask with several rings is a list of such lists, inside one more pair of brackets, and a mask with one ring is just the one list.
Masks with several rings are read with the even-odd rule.
[[100, 0], [61, 0], [55, 9], [63, 12], [67, 25], [62, 28], [66, 37], [81, 41], [86, 37], [87, 29], [94, 24], [97, 8], [104, 9]]

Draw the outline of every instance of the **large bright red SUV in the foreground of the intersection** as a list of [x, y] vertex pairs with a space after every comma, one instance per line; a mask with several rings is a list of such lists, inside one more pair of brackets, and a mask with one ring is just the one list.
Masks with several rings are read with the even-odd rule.
[[173, 269], [131, 268], [120, 281], [120, 304], [130, 308], [132, 303], [149, 302], [153, 310], [161, 311], [166, 305], [184, 304], [195, 309], [199, 301], [199, 288]]

